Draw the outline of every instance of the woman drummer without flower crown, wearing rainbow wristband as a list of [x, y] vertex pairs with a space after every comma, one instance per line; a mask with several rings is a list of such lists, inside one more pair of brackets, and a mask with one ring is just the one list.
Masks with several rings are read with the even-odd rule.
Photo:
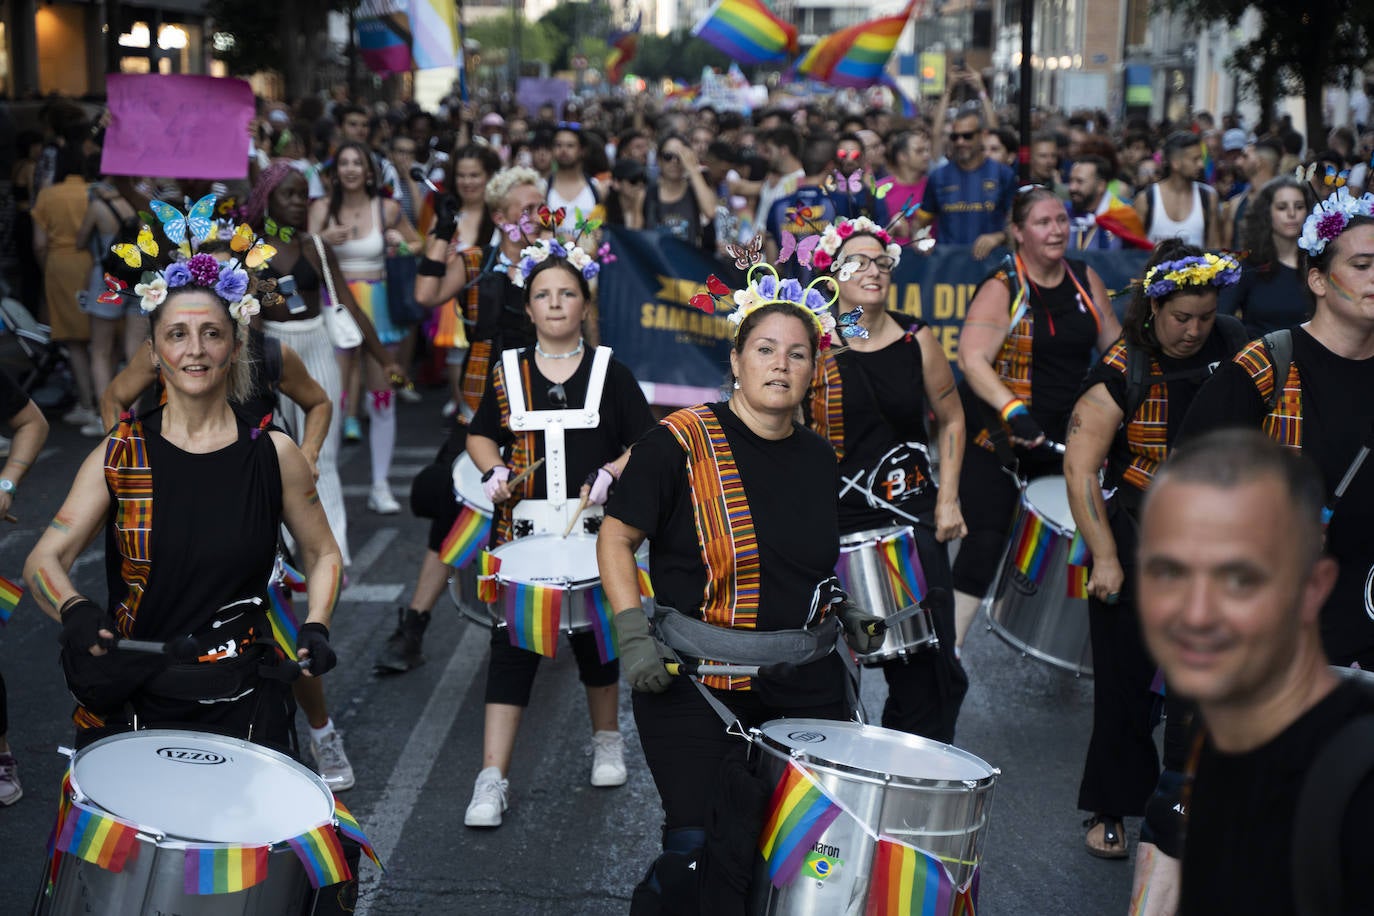
[[963, 411], [973, 448], [963, 453], [959, 501], [969, 534], [954, 564], [955, 618], [963, 643], [998, 570], [1017, 508], [1017, 485], [1062, 475], [1047, 444], [1063, 442], [1094, 352], [1121, 334], [1096, 271], [1065, 258], [1069, 214], [1054, 191], [1025, 185], [1011, 202], [1015, 254], [969, 304], [959, 334]]

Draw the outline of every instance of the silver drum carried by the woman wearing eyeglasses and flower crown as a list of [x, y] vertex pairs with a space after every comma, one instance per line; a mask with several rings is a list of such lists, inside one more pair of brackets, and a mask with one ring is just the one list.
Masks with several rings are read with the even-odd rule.
[[[929, 591], [910, 527], [845, 534], [840, 538], [835, 575], [855, 604], [882, 618], [911, 607]], [[886, 662], [938, 645], [930, 611], [922, 608], [889, 629], [882, 645], [857, 658], [864, 663]]]

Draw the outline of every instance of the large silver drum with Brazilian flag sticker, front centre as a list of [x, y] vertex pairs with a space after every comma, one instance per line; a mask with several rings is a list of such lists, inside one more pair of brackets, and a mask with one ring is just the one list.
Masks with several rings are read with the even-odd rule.
[[[787, 761], [805, 768], [841, 813], [820, 835], [801, 873], [778, 889], [758, 858], [750, 913], [863, 913], [877, 843], [855, 820], [940, 858], [956, 887], [982, 858], [1000, 770], [949, 744], [877, 725], [780, 718], [752, 732], [760, 775], [776, 783]], [[941, 913], [947, 916], [947, 913]]]

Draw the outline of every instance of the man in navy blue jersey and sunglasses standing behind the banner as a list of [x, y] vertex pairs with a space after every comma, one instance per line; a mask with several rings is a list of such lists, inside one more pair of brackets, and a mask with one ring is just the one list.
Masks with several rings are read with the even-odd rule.
[[977, 110], [955, 118], [949, 152], [949, 161], [930, 173], [915, 217], [922, 227], [934, 222], [943, 243], [971, 244], [973, 257], [981, 261], [1007, 243], [1017, 176], [982, 151], [982, 115]]

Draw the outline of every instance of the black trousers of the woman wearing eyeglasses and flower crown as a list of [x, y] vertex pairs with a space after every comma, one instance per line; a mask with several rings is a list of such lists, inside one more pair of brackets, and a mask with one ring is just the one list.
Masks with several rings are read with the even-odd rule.
[[[926, 585], [932, 589], [948, 589], [948, 549], [936, 540], [930, 529], [916, 526], [914, 530]], [[954, 603], [947, 602], [932, 618], [940, 648], [918, 650], [905, 659], [881, 665], [888, 681], [882, 725], [952, 744], [959, 707], [969, 692], [969, 676], [954, 654]]]

